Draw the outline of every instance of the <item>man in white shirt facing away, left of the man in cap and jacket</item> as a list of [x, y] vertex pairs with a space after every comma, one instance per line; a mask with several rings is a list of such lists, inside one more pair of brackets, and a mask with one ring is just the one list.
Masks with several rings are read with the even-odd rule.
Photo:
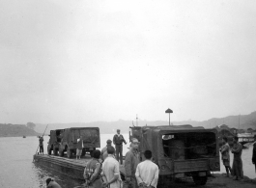
[[121, 176], [119, 171], [119, 162], [114, 156], [115, 148], [108, 147], [108, 156], [105, 158], [102, 164], [102, 178], [103, 187], [108, 188], [120, 188], [121, 187]]

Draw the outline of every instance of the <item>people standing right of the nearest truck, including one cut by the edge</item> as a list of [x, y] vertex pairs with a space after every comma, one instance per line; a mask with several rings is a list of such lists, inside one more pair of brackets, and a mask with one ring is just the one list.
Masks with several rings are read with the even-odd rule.
[[[253, 151], [252, 151], [252, 163], [255, 165], [256, 172], [256, 137], [254, 137]], [[229, 147], [228, 139], [223, 137], [223, 145], [219, 149], [221, 152], [221, 158], [223, 165], [225, 166], [227, 176], [233, 175], [234, 180], [240, 180], [243, 177], [242, 171], [242, 144], [239, 143], [239, 138], [235, 136], [233, 138], [233, 148]], [[230, 167], [230, 150], [234, 154], [232, 169]]]

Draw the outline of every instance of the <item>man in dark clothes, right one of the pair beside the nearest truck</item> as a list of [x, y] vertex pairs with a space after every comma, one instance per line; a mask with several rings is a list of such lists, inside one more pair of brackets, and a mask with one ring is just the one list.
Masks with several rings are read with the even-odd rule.
[[233, 175], [235, 180], [240, 180], [242, 178], [242, 145], [239, 143], [239, 137], [235, 136], [233, 138], [233, 148], [231, 150], [232, 153], [234, 153], [234, 159], [233, 159]]

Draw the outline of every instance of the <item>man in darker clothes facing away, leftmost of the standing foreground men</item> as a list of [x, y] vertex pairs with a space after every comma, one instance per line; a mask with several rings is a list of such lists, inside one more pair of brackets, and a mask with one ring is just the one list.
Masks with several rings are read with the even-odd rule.
[[100, 168], [100, 150], [96, 149], [93, 152], [93, 159], [87, 163], [84, 169], [84, 179], [87, 187], [100, 188], [102, 186]]

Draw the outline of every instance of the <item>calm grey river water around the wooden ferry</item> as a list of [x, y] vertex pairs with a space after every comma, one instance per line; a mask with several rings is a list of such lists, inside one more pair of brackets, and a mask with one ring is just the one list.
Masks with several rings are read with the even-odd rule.
[[[128, 141], [128, 134], [124, 134]], [[44, 136], [44, 153], [46, 153], [48, 136]], [[100, 146], [105, 147], [107, 139], [113, 139], [113, 134], [100, 135]], [[81, 185], [80, 180], [61, 175], [55, 171], [49, 171], [33, 163], [33, 155], [38, 148], [37, 137], [2, 137], [0, 138], [0, 187], [1, 188], [45, 188], [45, 179], [53, 177], [63, 188], [73, 188]], [[124, 146], [124, 154], [128, 151], [128, 145]], [[242, 150], [242, 162], [244, 175], [255, 178], [254, 165], [251, 164], [252, 146]], [[231, 161], [233, 155], [231, 154]], [[232, 163], [231, 163], [232, 165]], [[221, 163], [221, 173], [225, 170]]]

